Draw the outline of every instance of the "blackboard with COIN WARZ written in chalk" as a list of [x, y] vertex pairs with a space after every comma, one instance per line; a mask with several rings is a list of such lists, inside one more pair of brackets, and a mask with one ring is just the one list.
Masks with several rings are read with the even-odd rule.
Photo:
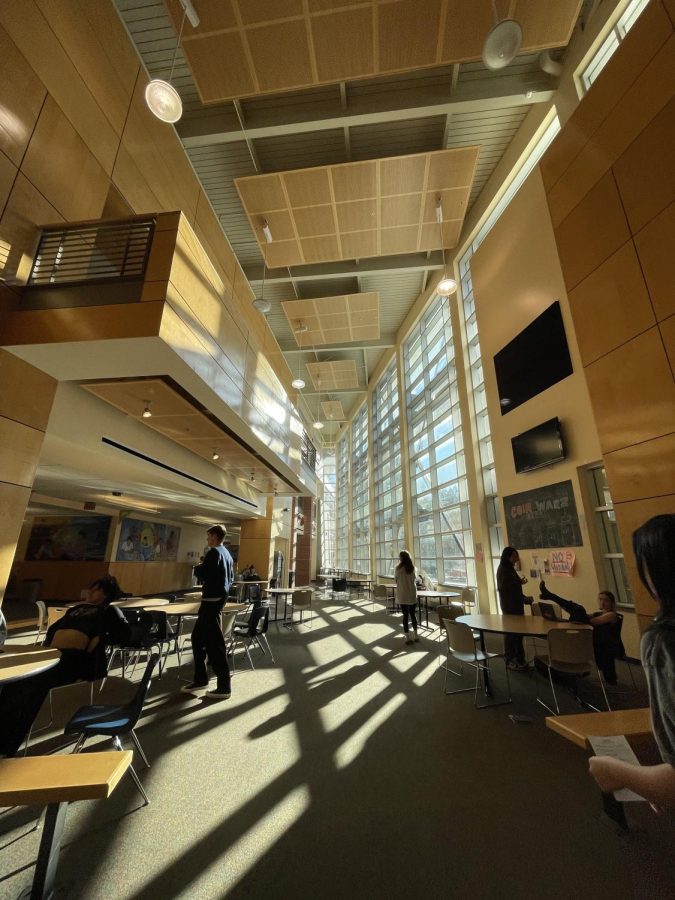
[[571, 481], [504, 497], [504, 521], [518, 550], [583, 545]]

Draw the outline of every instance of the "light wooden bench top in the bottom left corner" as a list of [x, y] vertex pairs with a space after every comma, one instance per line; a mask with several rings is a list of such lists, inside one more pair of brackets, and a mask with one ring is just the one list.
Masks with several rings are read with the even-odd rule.
[[0, 806], [105, 800], [132, 759], [131, 750], [0, 759]]

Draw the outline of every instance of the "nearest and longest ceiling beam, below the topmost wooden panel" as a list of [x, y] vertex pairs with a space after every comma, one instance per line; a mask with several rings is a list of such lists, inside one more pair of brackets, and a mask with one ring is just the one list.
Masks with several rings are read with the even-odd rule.
[[[395, 91], [392, 91], [391, 85], [383, 85], [381, 92], [363, 95], [351, 93], [347, 107], [342, 106], [338, 95], [335, 100], [317, 103], [294, 105], [289, 101], [286, 105], [279, 106], [271, 103], [264, 109], [253, 105], [247, 109], [246, 101], [242, 101], [242, 108], [246, 111], [246, 136], [249, 141], [254, 141], [288, 134], [373, 125], [378, 122], [409, 121], [428, 116], [531, 106], [533, 103], [550, 100], [554, 89], [554, 80], [544, 72], [477, 78], [460, 82], [454, 87], [454, 91], [450, 76], [437, 85]], [[187, 148], [243, 140], [232, 103], [188, 111], [176, 127]]]

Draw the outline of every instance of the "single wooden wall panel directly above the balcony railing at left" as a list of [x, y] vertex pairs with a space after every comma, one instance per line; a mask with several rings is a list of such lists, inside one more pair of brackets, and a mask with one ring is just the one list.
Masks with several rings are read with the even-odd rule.
[[108, 175], [51, 97], [45, 101], [21, 170], [67, 221], [100, 218]]

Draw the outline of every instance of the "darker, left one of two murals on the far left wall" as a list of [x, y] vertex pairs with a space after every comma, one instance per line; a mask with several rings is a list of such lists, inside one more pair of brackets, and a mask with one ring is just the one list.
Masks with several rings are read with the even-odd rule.
[[110, 516], [50, 516], [36, 519], [26, 559], [67, 561], [105, 559]]

